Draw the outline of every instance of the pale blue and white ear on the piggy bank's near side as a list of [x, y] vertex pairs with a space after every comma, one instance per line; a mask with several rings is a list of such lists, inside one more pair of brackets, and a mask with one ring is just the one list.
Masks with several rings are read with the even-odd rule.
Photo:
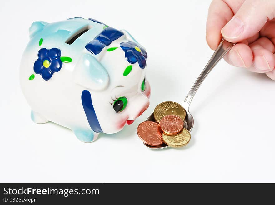
[[91, 90], [104, 90], [109, 84], [106, 69], [91, 54], [81, 56], [74, 72], [75, 83]]

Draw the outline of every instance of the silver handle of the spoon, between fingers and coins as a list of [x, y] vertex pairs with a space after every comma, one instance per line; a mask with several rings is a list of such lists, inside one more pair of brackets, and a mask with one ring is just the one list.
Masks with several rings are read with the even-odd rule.
[[222, 38], [222, 41], [220, 42], [219, 46], [215, 50], [214, 54], [212, 55], [212, 57], [208, 61], [207, 65], [201, 72], [200, 76], [197, 78], [197, 80], [194, 83], [194, 85], [192, 86], [191, 90], [185, 97], [185, 100], [183, 100], [182, 105], [184, 105], [184, 104], [187, 105], [184, 107], [189, 108], [189, 105], [190, 105], [194, 95], [196, 94], [198, 88], [204, 81], [205, 77], [210, 73], [210, 71], [212, 71], [212, 69], [217, 65], [217, 63], [223, 58], [223, 56], [225, 56], [225, 54], [228, 51], [230, 51], [232, 46], [234, 46], [235, 44], [236, 43], [230, 43], [230, 42], [226, 41], [224, 38]]

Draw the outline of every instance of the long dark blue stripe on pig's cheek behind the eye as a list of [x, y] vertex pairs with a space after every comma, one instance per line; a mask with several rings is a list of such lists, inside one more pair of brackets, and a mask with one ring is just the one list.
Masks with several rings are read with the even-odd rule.
[[85, 111], [85, 114], [91, 129], [94, 132], [98, 132], [98, 133], [103, 132], [93, 107], [91, 93], [88, 90], [83, 90], [81, 95], [81, 100], [82, 100], [83, 109]]

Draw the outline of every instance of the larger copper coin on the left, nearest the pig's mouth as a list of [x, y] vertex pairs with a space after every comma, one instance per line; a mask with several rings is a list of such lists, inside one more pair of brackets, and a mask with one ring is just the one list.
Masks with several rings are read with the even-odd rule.
[[151, 146], [163, 144], [162, 130], [158, 123], [145, 121], [138, 125], [138, 136], [145, 143]]

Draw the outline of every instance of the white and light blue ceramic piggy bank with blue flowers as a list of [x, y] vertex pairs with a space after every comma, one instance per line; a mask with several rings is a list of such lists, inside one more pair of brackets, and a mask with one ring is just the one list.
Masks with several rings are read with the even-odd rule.
[[29, 34], [20, 84], [34, 122], [55, 122], [92, 142], [148, 108], [147, 53], [127, 31], [76, 17], [34, 22]]

